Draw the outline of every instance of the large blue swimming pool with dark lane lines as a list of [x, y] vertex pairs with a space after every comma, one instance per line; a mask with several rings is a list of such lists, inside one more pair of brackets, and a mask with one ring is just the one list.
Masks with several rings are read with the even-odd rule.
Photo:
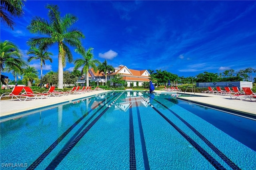
[[2, 169], [256, 169], [255, 120], [167, 94], [109, 92], [0, 126]]

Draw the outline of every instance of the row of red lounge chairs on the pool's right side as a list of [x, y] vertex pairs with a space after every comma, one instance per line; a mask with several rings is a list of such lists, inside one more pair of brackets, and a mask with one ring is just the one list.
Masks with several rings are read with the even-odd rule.
[[208, 90], [202, 91], [202, 93], [230, 95], [231, 99], [245, 100], [249, 98], [251, 101], [256, 100], [256, 93], [250, 87], [242, 87], [243, 91], [240, 91], [238, 87], [232, 87], [232, 90], [229, 87], [224, 87], [224, 89], [222, 90], [219, 86], [216, 87], [216, 90], [208, 87]]

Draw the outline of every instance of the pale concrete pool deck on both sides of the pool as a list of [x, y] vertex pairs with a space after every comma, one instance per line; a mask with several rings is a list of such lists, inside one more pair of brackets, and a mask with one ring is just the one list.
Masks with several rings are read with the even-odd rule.
[[[51, 105], [57, 105], [59, 103], [74, 102], [76, 100], [82, 99], [84, 97], [95, 96], [98, 94], [106, 93], [110, 90], [100, 90], [92, 91], [83, 94], [72, 94], [61, 97], [50, 97], [48, 99], [36, 99], [36, 100], [1, 100], [0, 101], [0, 117], [13, 115], [15, 113], [26, 112], [42, 107], [47, 107]], [[173, 93], [167, 91], [154, 91], [155, 93]], [[186, 94], [192, 94], [186, 92]], [[216, 94], [206, 94], [206, 93], [195, 93], [195, 95], [200, 95], [200, 97], [178, 97], [178, 99], [184, 99], [186, 101], [202, 103], [203, 105], [212, 105], [215, 107], [221, 107], [231, 111], [238, 111], [244, 114], [256, 116], [256, 101], [250, 101], [246, 99], [241, 101], [239, 99], [231, 99], [229, 95], [216, 95]]]

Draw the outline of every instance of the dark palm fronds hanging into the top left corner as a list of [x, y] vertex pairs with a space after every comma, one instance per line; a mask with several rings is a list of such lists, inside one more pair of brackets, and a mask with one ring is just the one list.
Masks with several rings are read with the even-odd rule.
[[14, 30], [13, 17], [20, 17], [23, 14], [22, 7], [25, 0], [1, 0], [0, 18], [8, 27]]

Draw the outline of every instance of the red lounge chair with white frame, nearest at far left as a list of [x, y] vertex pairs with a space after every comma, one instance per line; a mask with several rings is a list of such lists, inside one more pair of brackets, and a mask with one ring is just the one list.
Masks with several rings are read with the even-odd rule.
[[13, 99], [13, 97], [15, 97], [19, 101], [22, 101], [22, 99], [24, 99], [23, 101], [26, 101], [26, 99], [33, 99], [33, 100], [36, 99], [35, 95], [26, 95], [24, 93], [21, 93], [22, 90], [23, 90], [23, 86], [14, 86], [12, 89], [12, 92], [11, 93], [3, 93], [0, 96], [0, 100], [2, 97], [12, 97], [12, 99]]

